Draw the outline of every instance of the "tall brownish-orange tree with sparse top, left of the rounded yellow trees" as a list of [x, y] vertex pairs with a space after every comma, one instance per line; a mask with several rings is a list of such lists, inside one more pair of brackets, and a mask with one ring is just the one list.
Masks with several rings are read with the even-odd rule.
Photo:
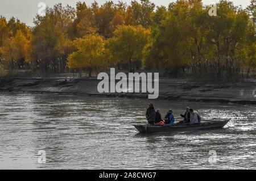
[[52, 73], [63, 72], [68, 54], [72, 50], [68, 39], [68, 27], [75, 18], [75, 10], [55, 5], [46, 10], [46, 16], [36, 16], [32, 38], [34, 67]]

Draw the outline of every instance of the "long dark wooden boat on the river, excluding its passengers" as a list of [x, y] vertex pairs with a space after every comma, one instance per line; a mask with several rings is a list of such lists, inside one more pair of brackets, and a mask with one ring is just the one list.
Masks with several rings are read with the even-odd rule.
[[216, 128], [222, 128], [228, 122], [230, 119], [226, 120], [202, 120], [200, 123], [196, 124], [181, 124], [177, 123], [174, 125], [150, 125], [150, 124], [144, 124], [144, 125], [134, 125], [134, 127], [140, 132], [140, 133], [158, 133], [158, 132], [178, 132], [178, 131], [191, 131], [191, 130], [198, 130], [198, 129], [216, 129]]

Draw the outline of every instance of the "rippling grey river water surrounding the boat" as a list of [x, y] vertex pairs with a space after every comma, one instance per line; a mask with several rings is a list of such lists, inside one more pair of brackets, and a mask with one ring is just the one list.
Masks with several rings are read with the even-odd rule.
[[146, 123], [148, 100], [0, 93], [0, 169], [256, 169], [255, 106], [154, 103], [162, 116], [190, 106], [204, 119], [232, 120], [145, 136], [133, 124]]

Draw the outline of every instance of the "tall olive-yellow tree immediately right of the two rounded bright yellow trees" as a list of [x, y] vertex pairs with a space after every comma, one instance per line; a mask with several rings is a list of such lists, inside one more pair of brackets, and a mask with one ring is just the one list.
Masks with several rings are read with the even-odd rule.
[[[151, 34], [144, 65], [146, 68], [162, 69], [166, 74], [177, 74], [188, 65], [191, 21], [188, 1], [177, 1], [169, 7], [156, 11], [156, 27]], [[155, 17], [153, 16], [153, 17]], [[151, 28], [151, 29], [152, 29]], [[155, 61], [154, 61], [155, 60]]]

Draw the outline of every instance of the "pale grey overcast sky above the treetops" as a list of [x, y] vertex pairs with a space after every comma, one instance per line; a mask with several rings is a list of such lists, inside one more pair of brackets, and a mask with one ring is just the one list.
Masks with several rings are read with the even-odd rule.
[[[40, 2], [46, 3], [47, 6], [52, 7], [56, 3], [62, 3], [63, 5], [76, 6], [76, 2], [82, 0], [0, 0], [0, 15], [5, 16], [7, 19], [10, 19], [11, 16], [20, 19], [22, 22], [28, 24], [29, 26], [33, 25], [33, 18], [38, 13]], [[88, 5], [94, 0], [84, 0]], [[118, 2], [118, 0], [113, 0]], [[123, 2], [130, 3], [131, 0], [119, 0]], [[170, 2], [175, 2], [176, 0], [151, 0], [156, 6], [164, 5], [168, 6]], [[97, 2], [102, 5], [106, 2], [105, 0], [97, 0]], [[205, 5], [210, 3], [218, 2], [218, 0], [203, 0]], [[233, 0], [234, 5], [242, 6], [243, 8], [247, 7], [250, 4], [250, 0]]]

